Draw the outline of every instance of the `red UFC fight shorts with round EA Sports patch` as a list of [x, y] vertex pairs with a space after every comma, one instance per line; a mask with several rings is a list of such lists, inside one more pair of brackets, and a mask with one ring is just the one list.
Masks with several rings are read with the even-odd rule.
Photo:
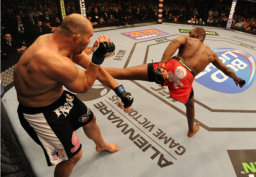
[[[157, 67], [158, 63], [153, 63], [153, 72]], [[168, 86], [170, 97], [186, 104], [194, 94], [192, 87], [194, 81], [193, 71], [178, 57], [169, 59], [166, 64], [166, 71], [169, 79], [165, 81], [164, 86]]]

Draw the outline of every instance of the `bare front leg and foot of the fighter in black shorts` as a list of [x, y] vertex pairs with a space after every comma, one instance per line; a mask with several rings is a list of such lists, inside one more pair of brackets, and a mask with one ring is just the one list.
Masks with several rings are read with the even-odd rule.
[[96, 151], [109, 151], [109, 152], [116, 152], [119, 150], [117, 145], [115, 144], [108, 144], [103, 140], [103, 137], [100, 133], [100, 128], [96, 123], [96, 116], [94, 115], [93, 120], [90, 123], [83, 126], [84, 133], [88, 138], [94, 141], [96, 144]]

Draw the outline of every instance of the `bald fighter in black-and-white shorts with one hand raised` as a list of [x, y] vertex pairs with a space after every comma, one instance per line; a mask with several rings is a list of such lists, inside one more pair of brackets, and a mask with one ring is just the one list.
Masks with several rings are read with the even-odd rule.
[[54, 33], [38, 37], [14, 69], [20, 123], [44, 150], [48, 166], [56, 165], [55, 177], [70, 176], [82, 157], [76, 134], [80, 127], [94, 141], [96, 151], [118, 151], [117, 145], [103, 140], [96, 116], [73, 93], [86, 93], [97, 78], [115, 91], [127, 112], [133, 101], [132, 95], [100, 66], [115, 50], [110, 38], [98, 37], [92, 59], [82, 52], [91, 36], [93, 27], [88, 19], [68, 15]]

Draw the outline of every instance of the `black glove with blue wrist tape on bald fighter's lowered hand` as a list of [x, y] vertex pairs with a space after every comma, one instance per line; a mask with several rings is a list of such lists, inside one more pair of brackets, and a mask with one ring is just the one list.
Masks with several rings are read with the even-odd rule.
[[132, 105], [133, 97], [132, 94], [129, 92], [126, 92], [124, 90], [124, 86], [120, 85], [117, 88], [114, 89], [115, 94], [117, 94], [118, 97], [121, 98], [122, 102], [124, 103], [124, 107], [128, 108]]

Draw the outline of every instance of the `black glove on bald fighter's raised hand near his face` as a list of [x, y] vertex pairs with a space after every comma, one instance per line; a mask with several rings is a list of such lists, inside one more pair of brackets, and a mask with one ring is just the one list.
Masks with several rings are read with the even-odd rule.
[[[94, 47], [93, 47], [94, 48]], [[93, 57], [91, 58], [91, 62], [94, 65], [101, 65], [105, 59], [105, 57], [113, 54], [115, 51], [115, 44], [113, 42], [100, 42], [97, 50], [93, 52]]]

